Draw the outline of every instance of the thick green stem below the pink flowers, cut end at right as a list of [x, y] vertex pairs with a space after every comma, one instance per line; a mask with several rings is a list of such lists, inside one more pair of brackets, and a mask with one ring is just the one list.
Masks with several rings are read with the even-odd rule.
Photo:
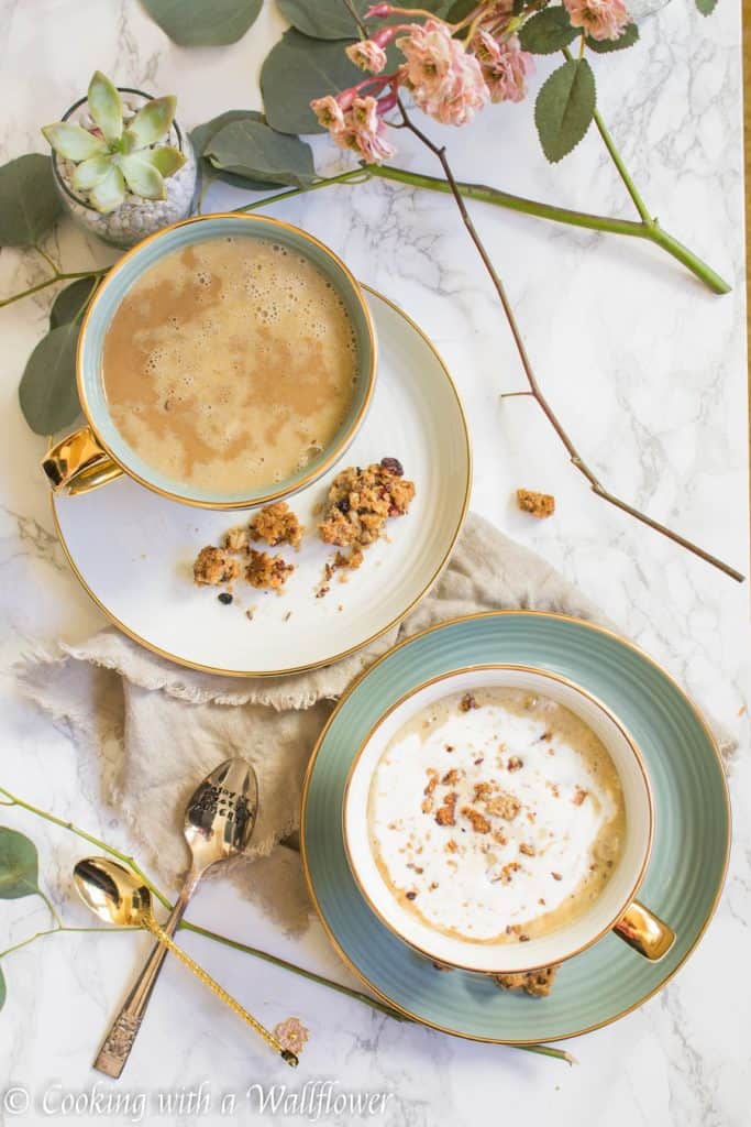
[[[625, 169], [624, 169], [625, 171]], [[450, 195], [450, 185], [442, 177], [427, 176], [422, 172], [410, 172], [403, 168], [394, 168], [392, 165], [370, 165], [368, 167], [370, 176], [383, 180], [394, 180], [399, 184], [411, 184], [417, 188], [427, 188], [429, 192], [440, 192]], [[626, 172], [626, 176], [628, 174]], [[631, 178], [629, 178], [631, 179]], [[645, 239], [654, 242], [679, 263], [686, 266], [696, 277], [700, 278], [713, 291], [713, 293], [730, 293], [731, 286], [710, 266], [703, 261], [692, 250], [685, 247], [678, 239], [674, 239], [663, 230], [656, 220], [638, 223], [635, 220], [613, 219], [609, 215], [596, 215], [591, 212], [573, 211], [570, 207], [557, 207], [555, 204], [544, 204], [537, 199], [527, 199], [525, 196], [515, 196], [500, 188], [492, 188], [485, 184], [467, 184], [457, 181], [461, 194], [466, 199], [477, 199], [481, 203], [493, 204], [497, 207], [507, 207], [509, 211], [520, 212], [524, 215], [534, 215], [537, 219], [551, 220], [554, 223], [565, 223], [569, 227], [580, 227], [590, 231], [605, 231], [609, 234], [624, 234], [633, 239]], [[634, 190], [636, 190], [634, 188]], [[642, 204], [642, 206], [644, 206]]]

